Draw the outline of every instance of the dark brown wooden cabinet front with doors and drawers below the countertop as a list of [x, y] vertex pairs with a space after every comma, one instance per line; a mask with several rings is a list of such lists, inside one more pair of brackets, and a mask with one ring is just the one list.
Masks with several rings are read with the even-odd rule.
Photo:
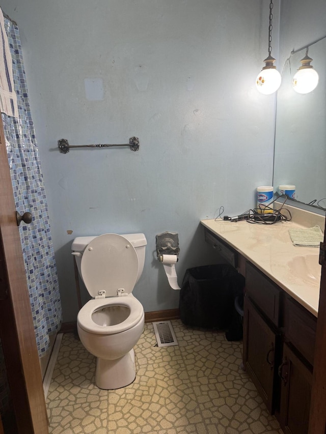
[[249, 262], [243, 364], [284, 433], [306, 434], [317, 319]]

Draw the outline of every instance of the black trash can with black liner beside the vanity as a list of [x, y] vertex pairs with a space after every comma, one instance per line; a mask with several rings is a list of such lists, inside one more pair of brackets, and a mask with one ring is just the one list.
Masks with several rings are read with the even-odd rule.
[[[244, 277], [228, 264], [186, 270], [180, 290], [180, 319], [186, 326], [227, 330], [239, 314], [234, 301], [243, 295]], [[236, 324], [241, 324], [236, 321]], [[231, 330], [230, 330], [231, 331]], [[228, 340], [242, 338], [236, 331]]]

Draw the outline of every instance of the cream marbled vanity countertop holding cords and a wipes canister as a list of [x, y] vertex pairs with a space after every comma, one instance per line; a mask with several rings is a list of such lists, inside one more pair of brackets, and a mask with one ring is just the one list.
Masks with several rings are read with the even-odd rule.
[[293, 220], [266, 225], [251, 224], [247, 221], [231, 222], [209, 219], [201, 220], [201, 224], [238, 251], [286, 293], [317, 316], [321, 267], [314, 267], [319, 271], [319, 275], [317, 272], [317, 276], [314, 273], [314, 276], [307, 274], [307, 278], [302, 278], [295, 274], [293, 267], [289, 264], [296, 256], [304, 256], [318, 264], [319, 248], [293, 246], [289, 228], [312, 227], [319, 224], [323, 230], [324, 217], [313, 221], [313, 224], [309, 218], [309, 226], [305, 224], [305, 220], [300, 220], [300, 223], [299, 220], [296, 222]]

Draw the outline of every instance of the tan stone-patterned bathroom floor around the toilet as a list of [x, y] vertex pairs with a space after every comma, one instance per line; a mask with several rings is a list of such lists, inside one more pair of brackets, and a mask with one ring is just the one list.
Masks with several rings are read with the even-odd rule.
[[137, 377], [94, 384], [95, 358], [65, 334], [47, 396], [51, 434], [282, 434], [239, 366], [242, 342], [172, 321], [178, 346], [157, 347], [153, 326], [135, 346]]

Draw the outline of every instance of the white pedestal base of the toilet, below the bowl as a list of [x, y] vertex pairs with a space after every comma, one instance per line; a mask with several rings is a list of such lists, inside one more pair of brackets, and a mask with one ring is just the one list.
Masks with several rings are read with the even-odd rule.
[[100, 389], [120, 389], [136, 377], [134, 350], [117, 360], [96, 359], [95, 384]]

